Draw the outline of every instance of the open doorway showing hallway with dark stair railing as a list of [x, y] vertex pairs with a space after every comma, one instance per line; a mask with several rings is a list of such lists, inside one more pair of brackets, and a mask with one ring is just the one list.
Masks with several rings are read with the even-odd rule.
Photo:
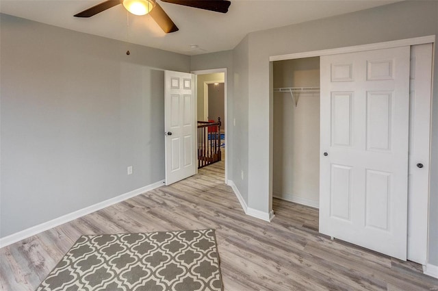
[[227, 71], [192, 73], [196, 74], [198, 168], [223, 163], [227, 182]]

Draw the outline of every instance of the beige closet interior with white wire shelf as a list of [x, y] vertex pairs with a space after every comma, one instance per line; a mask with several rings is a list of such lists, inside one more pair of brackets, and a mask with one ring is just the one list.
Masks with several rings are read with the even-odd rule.
[[273, 62], [273, 196], [319, 206], [320, 58]]

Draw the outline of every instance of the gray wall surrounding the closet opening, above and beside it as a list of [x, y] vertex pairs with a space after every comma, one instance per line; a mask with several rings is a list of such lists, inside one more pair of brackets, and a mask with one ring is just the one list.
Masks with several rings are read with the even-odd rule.
[[[262, 212], [270, 211], [272, 185], [269, 170], [272, 167], [272, 73], [269, 57], [287, 53], [318, 51], [336, 47], [365, 45], [438, 32], [437, 1], [402, 1], [379, 8], [364, 10], [318, 21], [289, 25], [277, 29], [257, 31], [248, 35], [248, 197], [249, 207]], [[435, 68], [438, 67], [435, 58]], [[435, 74], [435, 88], [438, 88]], [[242, 88], [245, 85], [242, 85]], [[242, 92], [243, 94], [245, 92]], [[433, 138], [430, 185], [430, 238], [429, 262], [438, 264], [438, 90], [433, 96]]]

